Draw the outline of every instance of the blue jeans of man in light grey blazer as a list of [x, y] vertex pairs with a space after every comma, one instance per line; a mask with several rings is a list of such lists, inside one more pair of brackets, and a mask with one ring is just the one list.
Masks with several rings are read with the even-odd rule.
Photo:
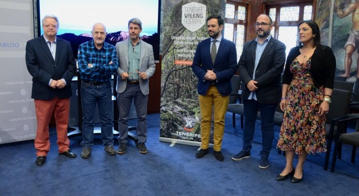
[[120, 132], [117, 139], [119, 143], [127, 144], [128, 116], [132, 99], [137, 114], [136, 134], [138, 137], [138, 143], [145, 143], [147, 141], [148, 95], [143, 95], [139, 84], [128, 83], [126, 90], [123, 93], [117, 94], [117, 106], [119, 109], [118, 126]]

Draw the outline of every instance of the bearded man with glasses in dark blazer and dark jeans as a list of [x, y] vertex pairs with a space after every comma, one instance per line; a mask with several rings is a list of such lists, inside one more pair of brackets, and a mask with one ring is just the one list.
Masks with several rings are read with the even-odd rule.
[[281, 98], [281, 73], [285, 62], [285, 45], [271, 37], [272, 19], [261, 14], [256, 20], [257, 38], [244, 44], [238, 71], [244, 84], [243, 149], [232, 159], [251, 157], [256, 116], [260, 111], [262, 150], [259, 168], [269, 167], [268, 156], [274, 138], [274, 113]]

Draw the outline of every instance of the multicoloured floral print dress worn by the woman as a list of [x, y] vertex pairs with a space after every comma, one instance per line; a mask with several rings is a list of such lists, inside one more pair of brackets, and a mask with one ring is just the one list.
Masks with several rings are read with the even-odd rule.
[[290, 82], [286, 97], [286, 108], [279, 134], [277, 148], [301, 154], [327, 151], [325, 141], [325, 115], [319, 116], [319, 107], [324, 87], [314, 86], [310, 70], [310, 58], [305, 63], [297, 59], [291, 64]]

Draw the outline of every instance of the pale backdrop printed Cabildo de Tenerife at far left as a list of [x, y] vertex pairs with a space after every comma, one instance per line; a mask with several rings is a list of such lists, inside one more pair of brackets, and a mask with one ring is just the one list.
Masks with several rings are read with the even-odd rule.
[[32, 0], [0, 0], [0, 144], [31, 140], [36, 114], [26, 42], [34, 38]]

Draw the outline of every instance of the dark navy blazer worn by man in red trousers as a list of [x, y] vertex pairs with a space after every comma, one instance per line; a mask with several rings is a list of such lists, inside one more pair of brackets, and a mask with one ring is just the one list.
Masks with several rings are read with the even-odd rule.
[[[56, 56], [53, 60], [44, 36], [29, 40], [26, 43], [25, 59], [27, 70], [32, 76], [31, 98], [51, 100], [55, 96], [72, 96], [71, 80], [76, 71], [76, 64], [70, 42], [57, 37]], [[50, 78], [64, 78], [66, 86], [62, 89], [52, 89], [49, 86]]]

